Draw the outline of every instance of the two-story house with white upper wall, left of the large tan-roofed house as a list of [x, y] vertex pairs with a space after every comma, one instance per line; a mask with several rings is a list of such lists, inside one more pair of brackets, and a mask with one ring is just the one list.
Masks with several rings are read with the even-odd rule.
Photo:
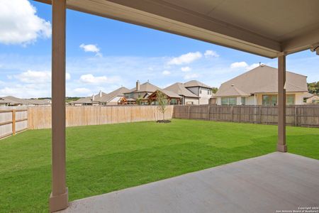
[[196, 80], [184, 83], [184, 87], [199, 97], [199, 104], [208, 104], [213, 95], [212, 87]]

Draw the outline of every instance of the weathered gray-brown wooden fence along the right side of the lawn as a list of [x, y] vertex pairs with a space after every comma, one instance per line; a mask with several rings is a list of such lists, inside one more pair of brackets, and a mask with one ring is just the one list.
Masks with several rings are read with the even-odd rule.
[[[174, 118], [232, 121], [252, 124], [277, 124], [276, 106], [174, 106]], [[289, 105], [286, 107], [289, 126], [319, 127], [319, 105]]]

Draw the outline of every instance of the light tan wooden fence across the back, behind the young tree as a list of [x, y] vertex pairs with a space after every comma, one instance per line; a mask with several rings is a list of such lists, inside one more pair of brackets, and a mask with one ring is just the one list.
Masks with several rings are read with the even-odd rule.
[[[172, 119], [173, 106], [167, 106], [165, 119]], [[118, 124], [162, 119], [157, 106], [67, 107], [67, 126]], [[51, 128], [51, 107], [28, 107], [28, 128]]]

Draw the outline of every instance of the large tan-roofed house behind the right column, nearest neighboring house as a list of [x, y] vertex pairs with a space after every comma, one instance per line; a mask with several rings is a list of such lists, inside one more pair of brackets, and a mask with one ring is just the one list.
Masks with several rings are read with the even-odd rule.
[[[308, 92], [307, 77], [286, 72], [286, 103], [303, 104]], [[259, 65], [220, 85], [216, 92], [218, 105], [276, 105], [278, 102], [278, 70]]]

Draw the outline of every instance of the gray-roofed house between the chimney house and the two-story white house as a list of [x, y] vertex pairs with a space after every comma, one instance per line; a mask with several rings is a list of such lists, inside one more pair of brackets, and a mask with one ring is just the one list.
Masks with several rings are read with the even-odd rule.
[[164, 88], [164, 90], [178, 94], [181, 97], [181, 104], [199, 104], [199, 97], [189, 89], [186, 89], [183, 83], [177, 82]]

